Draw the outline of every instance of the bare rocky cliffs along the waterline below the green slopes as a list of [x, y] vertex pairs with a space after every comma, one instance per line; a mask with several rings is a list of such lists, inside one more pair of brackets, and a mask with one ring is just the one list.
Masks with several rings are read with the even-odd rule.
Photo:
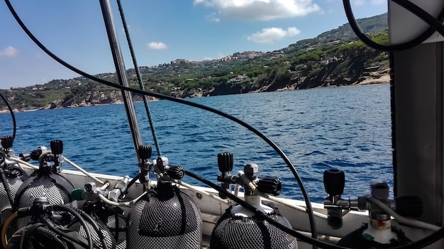
[[[354, 58], [343, 61], [333, 61], [322, 67], [316, 67], [308, 75], [304, 76], [304, 71], [310, 65], [299, 66], [294, 72], [277, 73], [271, 70], [268, 74], [254, 83], [245, 82], [224, 82], [218, 84], [209, 91], [193, 89], [184, 92], [179, 97], [201, 97], [228, 94], [245, 94], [249, 92], [273, 92], [294, 89], [309, 89], [315, 87], [337, 87], [357, 84], [381, 84], [389, 82], [389, 68], [387, 66], [365, 67], [365, 60]], [[341, 70], [346, 67], [348, 70]], [[69, 108], [78, 106], [94, 106], [100, 104], [122, 103], [121, 92], [119, 90], [94, 90], [83, 94], [74, 95], [69, 98], [53, 101], [43, 109]], [[148, 97], [149, 100], [153, 100]], [[133, 95], [134, 101], [142, 101], [138, 94]]]

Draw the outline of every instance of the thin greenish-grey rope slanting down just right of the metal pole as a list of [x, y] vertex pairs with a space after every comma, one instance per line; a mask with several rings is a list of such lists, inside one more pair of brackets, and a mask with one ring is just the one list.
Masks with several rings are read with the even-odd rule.
[[[126, 25], [126, 19], [125, 19], [125, 14], [123, 13], [121, 0], [117, 0], [117, 5], [118, 5], [118, 11], [121, 14], [123, 29], [125, 30], [126, 41], [128, 42], [128, 47], [130, 48], [131, 58], [133, 59], [134, 70], [135, 70], [135, 74], [137, 75], [137, 79], [138, 79], [138, 82], [139, 82], [139, 87], [140, 87], [141, 90], [145, 91], [145, 85], [143, 84], [142, 77], [140, 76], [140, 70], [139, 70], [139, 67], [138, 67], [138, 64], [137, 64], [137, 60], [135, 60], [135, 53], [134, 53], [134, 49], [133, 49], [133, 43], [131, 43], [130, 33], [128, 31], [128, 26]], [[157, 155], [158, 156], [162, 156], [162, 153], [160, 152], [159, 141], [157, 140], [157, 135], [156, 135], [155, 127], [154, 127], [154, 124], [152, 122], [152, 116], [151, 116], [151, 112], [150, 112], [150, 106], [148, 106], [148, 100], [147, 100], [145, 94], [143, 94], [142, 97], [143, 97], [143, 104], [145, 105], [145, 111], [146, 111], [147, 116], [148, 116], [148, 122], [150, 123], [150, 127], [151, 127], [152, 140], [154, 140], [154, 144], [156, 146]]]

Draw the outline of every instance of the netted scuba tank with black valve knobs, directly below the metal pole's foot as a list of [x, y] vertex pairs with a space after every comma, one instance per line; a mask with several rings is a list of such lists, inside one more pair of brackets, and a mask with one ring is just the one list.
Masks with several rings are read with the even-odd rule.
[[[173, 179], [181, 179], [180, 166], [168, 166], [167, 157], [158, 157], [154, 164], [148, 158], [151, 148], [141, 145], [140, 182], [148, 183], [149, 172], [160, 172]], [[145, 175], [144, 175], [145, 174]], [[127, 248], [201, 248], [202, 221], [199, 207], [191, 197], [171, 182], [157, 181], [138, 199], [128, 214]]]

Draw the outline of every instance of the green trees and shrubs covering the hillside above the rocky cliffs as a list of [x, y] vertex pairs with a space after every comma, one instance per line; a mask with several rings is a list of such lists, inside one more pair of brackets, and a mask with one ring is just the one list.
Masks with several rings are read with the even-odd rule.
[[[363, 31], [369, 32], [377, 43], [388, 43], [387, 13], [372, 18], [361, 19], [358, 23]], [[233, 87], [239, 92], [248, 92], [265, 84], [289, 84], [292, 79], [301, 79], [321, 72], [332, 62], [365, 60], [365, 66], [387, 66], [387, 54], [373, 50], [358, 41], [348, 24], [318, 35], [316, 38], [299, 40], [287, 48], [272, 52], [235, 52], [224, 60], [190, 62], [175, 60], [170, 64], [155, 67], [142, 67], [145, 90], [160, 94], [189, 97], [196, 92], [209, 94], [218, 87]], [[348, 72], [348, 64], [335, 69], [335, 75]], [[112, 73], [98, 74], [96, 77], [116, 82]], [[128, 70], [131, 87], [138, 88], [135, 70]], [[116, 89], [84, 77], [74, 79], [54, 79], [46, 84], [24, 88], [1, 90], [16, 109], [38, 109], [54, 101], [88, 102], [92, 92], [109, 93]], [[117, 91], [118, 92], [118, 91]], [[3, 108], [0, 104], [0, 109]]]

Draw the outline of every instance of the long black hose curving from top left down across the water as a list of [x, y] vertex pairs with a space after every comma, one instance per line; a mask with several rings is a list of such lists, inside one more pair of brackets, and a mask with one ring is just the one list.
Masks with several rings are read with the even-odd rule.
[[102, 83], [102, 84], [106, 84], [107, 86], [110, 87], [116, 87], [118, 89], [122, 89], [122, 90], [126, 90], [128, 92], [134, 92], [137, 94], [143, 94], [143, 95], [148, 95], [148, 96], [154, 96], [157, 97], [159, 99], [165, 99], [165, 100], [169, 100], [169, 101], [173, 101], [176, 103], [180, 103], [180, 104], [185, 104], [188, 106], [193, 106], [199, 109], [203, 109], [206, 111], [210, 111], [213, 114], [218, 114], [220, 116], [223, 116], [225, 118], [230, 119], [231, 121], [234, 121], [235, 123], [240, 124], [241, 126], [247, 128], [248, 130], [252, 131], [252, 133], [255, 133], [256, 135], [258, 135], [260, 138], [262, 138], [262, 140], [265, 140], [266, 143], [268, 143], [279, 155], [280, 157], [282, 157], [282, 159], [284, 160], [284, 162], [286, 162], [287, 166], [289, 167], [289, 169], [292, 171], [294, 177], [296, 178], [296, 181], [299, 184], [299, 188], [301, 189], [302, 195], [304, 196], [304, 201], [306, 204], [306, 209], [307, 209], [307, 213], [309, 214], [309, 221], [310, 221], [310, 226], [311, 226], [311, 233], [313, 238], [317, 237], [317, 231], [316, 231], [316, 223], [314, 222], [314, 215], [313, 215], [313, 208], [311, 206], [311, 201], [309, 198], [309, 195], [306, 192], [306, 189], [304, 187], [304, 184], [302, 183], [301, 177], [299, 177], [298, 172], [296, 171], [296, 168], [294, 167], [294, 165], [292, 164], [292, 162], [289, 160], [289, 158], [287, 157], [287, 155], [285, 155], [285, 153], [279, 148], [277, 147], [277, 145], [275, 143], [272, 142], [272, 140], [270, 140], [270, 138], [267, 138], [267, 136], [265, 136], [264, 134], [260, 133], [260, 131], [257, 131], [255, 128], [253, 128], [252, 126], [250, 126], [248, 123], [245, 123], [244, 121], [241, 121], [238, 118], [235, 118], [234, 116], [231, 116], [229, 114], [224, 113], [223, 111], [219, 111], [217, 109], [213, 109], [209, 106], [204, 106], [201, 104], [197, 104], [191, 101], [185, 101], [183, 99], [177, 99], [175, 97], [172, 96], [167, 96], [167, 95], [163, 95], [163, 94], [156, 94], [154, 92], [146, 92], [140, 89], [132, 89], [130, 87], [124, 87], [121, 86], [119, 84], [114, 84], [112, 82], [108, 82], [104, 79], [100, 79], [97, 77], [92, 76], [91, 74], [87, 74], [87, 72], [83, 72], [82, 70], [77, 69], [76, 67], [73, 67], [72, 65], [70, 65], [69, 63], [65, 62], [64, 60], [60, 59], [59, 57], [57, 57], [57, 55], [54, 55], [50, 50], [48, 50], [47, 48], [45, 48], [45, 46], [40, 43], [40, 41], [35, 38], [35, 36], [28, 30], [28, 28], [26, 28], [25, 24], [23, 23], [23, 21], [21, 21], [21, 18], [18, 17], [16, 11], [13, 9], [13, 6], [11, 6], [11, 3], [9, 2], [9, 0], [5, 0], [6, 5], [9, 8], [9, 11], [11, 11], [12, 15], [14, 16], [14, 18], [16, 18], [16, 21], [18, 22], [18, 24], [21, 26], [21, 28], [23, 29], [23, 31], [25, 31], [25, 33], [30, 37], [31, 40], [33, 40], [33, 42], [38, 45], [38, 47], [40, 49], [42, 49], [44, 52], [46, 52], [46, 54], [48, 54], [50, 57], [52, 57], [52, 59], [56, 60], [57, 62], [59, 62], [60, 64], [64, 65], [65, 67], [67, 67], [68, 69], [77, 72], [78, 74], [87, 77], [89, 79], [92, 79], [96, 82]]

